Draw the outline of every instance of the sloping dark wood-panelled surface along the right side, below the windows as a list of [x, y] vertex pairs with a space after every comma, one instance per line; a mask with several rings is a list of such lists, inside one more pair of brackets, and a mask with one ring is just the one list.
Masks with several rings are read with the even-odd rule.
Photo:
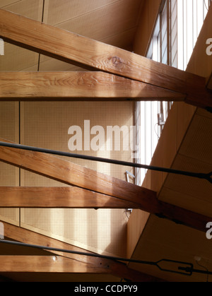
[[[204, 42], [211, 35], [211, 13], [209, 11], [196, 47], [187, 66], [187, 71], [206, 77], [207, 88], [211, 89], [212, 59], [205, 54]], [[152, 164], [172, 167], [190, 172], [211, 172], [212, 165], [212, 114], [203, 109], [182, 103], [174, 103], [163, 134], [153, 155]], [[195, 213], [209, 215], [212, 211], [211, 183], [206, 180], [182, 177], [174, 174], [160, 174], [148, 171], [143, 186], [158, 191], [160, 201], [170, 202]], [[212, 220], [212, 218], [211, 218]], [[135, 222], [139, 227], [134, 227]], [[184, 225], [134, 211], [129, 221], [129, 233], [138, 233], [138, 242], [133, 258], [175, 259], [194, 264], [194, 268], [211, 271], [211, 240], [205, 232], [192, 230]], [[129, 237], [131, 240], [132, 236]], [[134, 244], [135, 245], [135, 244]], [[196, 258], [200, 261], [196, 261]], [[200, 265], [199, 265], [200, 264]], [[182, 276], [163, 273], [157, 268], [129, 264], [136, 270], [170, 281], [211, 281], [205, 274], [194, 273]], [[167, 267], [167, 266], [166, 266]], [[170, 266], [168, 266], [170, 267]], [[175, 268], [175, 266], [172, 266]]]

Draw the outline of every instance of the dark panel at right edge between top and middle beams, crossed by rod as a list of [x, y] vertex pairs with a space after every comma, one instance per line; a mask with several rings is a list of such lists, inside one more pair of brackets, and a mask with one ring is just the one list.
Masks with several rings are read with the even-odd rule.
[[[198, 109], [172, 168], [188, 172], [211, 172], [211, 126], [212, 114]], [[211, 216], [211, 183], [206, 180], [169, 174], [159, 199]]]

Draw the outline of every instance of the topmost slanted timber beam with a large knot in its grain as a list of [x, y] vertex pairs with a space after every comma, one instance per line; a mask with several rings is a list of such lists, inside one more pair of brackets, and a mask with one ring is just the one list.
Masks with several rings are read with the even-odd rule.
[[185, 93], [185, 102], [197, 107], [212, 107], [212, 95], [206, 89], [204, 77], [3, 9], [0, 9], [0, 37], [70, 64]]

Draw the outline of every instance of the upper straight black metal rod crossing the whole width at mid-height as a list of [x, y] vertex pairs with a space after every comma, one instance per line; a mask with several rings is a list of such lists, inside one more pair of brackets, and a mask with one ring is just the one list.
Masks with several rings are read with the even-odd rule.
[[6, 146], [6, 147], [10, 147], [10, 148], [18, 148], [18, 149], [23, 149], [23, 150], [31, 150], [31, 151], [41, 152], [41, 153], [60, 155], [60, 156], [67, 156], [67, 157], [71, 157], [71, 158], [80, 158], [80, 159], [84, 159], [84, 160], [107, 162], [107, 163], [112, 163], [114, 165], [124, 165], [124, 166], [128, 166], [128, 167], [139, 167], [139, 168], [143, 168], [146, 170], [155, 170], [158, 172], [181, 174], [181, 175], [188, 176], [188, 177], [196, 177], [199, 179], [206, 179], [208, 182], [210, 182], [212, 184], [212, 178], [211, 178], [212, 172], [210, 172], [208, 174], [199, 173], [199, 172], [185, 172], [182, 170], [167, 169], [165, 167], [155, 167], [153, 165], [141, 165], [140, 163], [136, 163], [136, 162], [126, 162], [126, 161], [122, 161], [122, 160], [111, 160], [108, 158], [99, 158], [97, 156], [81, 155], [78, 153], [62, 152], [62, 151], [58, 151], [58, 150], [37, 148], [37, 147], [33, 147], [33, 146], [25, 146], [25, 145], [20, 145], [20, 144], [15, 144], [15, 143], [6, 143], [6, 142], [1, 142], [1, 141], [0, 141], [0, 146]]

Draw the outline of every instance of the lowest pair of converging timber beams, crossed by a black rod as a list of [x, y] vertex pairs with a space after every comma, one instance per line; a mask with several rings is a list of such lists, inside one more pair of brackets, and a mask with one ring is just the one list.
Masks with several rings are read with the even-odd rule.
[[[59, 241], [52, 237], [40, 235], [37, 232], [27, 230], [23, 227], [4, 223], [4, 237], [13, 241], [23, 242], [25, 244], [42, 245], [57, 249], [69, 249], [75, 252], [88, 252], [79, 247], [66, 242]], [[16, 247], [16, 246], [14, 246]], [[1, 249], [1, 243], [0, 243]], [[16, 249], [14, 249], [15, 251]], [[126, 264], [111, 259], [104, 259], [81, 254], [62, 253], [59, 251], [48, 250], [52, 256], [0, 256], [1, 271], [20, 271], [20, 272], [56, 272], [56, 273], [102, 273], [112, 274], [119, 278], [138, 282], [161, 281], [159, 278], [149, 276], [129, 268]], [[55, 256], [57, 255], [57, 256]], [[26, 260], [25, 260], [26, 259]], [[31, 260], [30, 260], [31, 259]], [[44, 261], [42, 261], [44, 259]], [[4, 262], [4, 264], [3, 264]], [[24, 264], [25, 262], [25, 264]], [[32, 264], [33, 263], [33, 264]], [[45, 264], [44, 264], [45, 263]], [[32, 270], [33, 268], [33, 270]]]

